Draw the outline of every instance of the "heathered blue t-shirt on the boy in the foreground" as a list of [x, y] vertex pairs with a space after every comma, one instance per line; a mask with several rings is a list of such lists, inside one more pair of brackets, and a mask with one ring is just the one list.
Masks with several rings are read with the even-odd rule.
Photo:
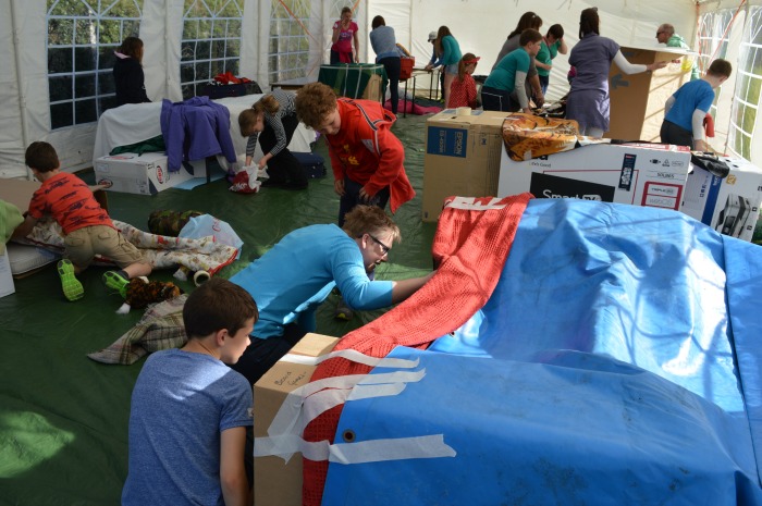
[[251, 425], [251, 385], [209, 355], [148, 357], [133, 390], [123, 506], [224, 506], [221, 433]]

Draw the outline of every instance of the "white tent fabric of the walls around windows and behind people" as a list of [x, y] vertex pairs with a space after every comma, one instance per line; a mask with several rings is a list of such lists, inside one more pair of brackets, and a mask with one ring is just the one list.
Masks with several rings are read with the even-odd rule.
[[[285, 0], [284, 0], [285, 1]], [[310, 53], [308, 75], [317, 78], [319, 65], [328, 60], [331, 24], [344, 5], [356, 7], [355, 18], [360, 26], [360, 57], [373, 61], [368, 33], [374, 15], [382, 15], [394, 27], [397, 41], [416, 57], [422, 66], [431, 55], [427, 41], [429, 32], [447, 25], [463, 51], [481, 57], [477, 74], [489, 73], [496, 54], [519, 16], [526, 11], [537, 12], [543, 20], [543, 32], [561, 23], [569, 46], [577, 41], [579, 13], [588, 7], [598, 7], [601, 33], [620, 45], [654, 47], [655, 29], [661, 23], [672, 23], [677, 33], [693, 42], [699, 12], [735, 9], [743, 0], [303, 0], [310, 9]], [[268, 49], [270, 47], [270, 0], [241, 0], [242, 20], [241, 75], [268, 85]], [[752, 0], [746, 5], [758, 5]], [[182, 98], [180, 87], [180, 38], [184, 0], [144, 0], [140, 37], [146, 42], [144, 66], [146, 87], [152, 100]], [[47, 82], [47, 20], [46, 0], [8, 0], [0, 2], [0, 64], [5, 72], [0, 76], [0, 176], [26, 174], [23, 151], [32, 140], [48, 140], [56, 146], [64, 168], [88, 166], [91, 160], [96, 124], [50, 129], [50, 106]], [[15, 39], [14, 39], [15, 37]], [[550, 99], [567, 91], [565, 79], [567, 57], [554, 61], [551, 74]], [[724, 121], [729, 123], [729, 108]], [[727, 131], [722, 121], [717, 131]], [[752, 161], [754, 157], [752, 157]], [[757, 161], [757, 164], [762, 164]]]

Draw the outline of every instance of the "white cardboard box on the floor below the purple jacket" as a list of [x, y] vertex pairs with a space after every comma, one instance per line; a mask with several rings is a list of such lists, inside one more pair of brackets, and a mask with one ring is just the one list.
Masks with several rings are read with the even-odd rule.
[[96, 160], [96, 183], [111, 183], [107, 188], [110, 192], [156, 195], [193, 177], [206, 177], [205, 160], [192, 162], [192, 164], [193, 172], [188, 172], [185, 164], [179, 172], [170, 172], [167, 169], [165, 155], [125, 152], [106, 156]]

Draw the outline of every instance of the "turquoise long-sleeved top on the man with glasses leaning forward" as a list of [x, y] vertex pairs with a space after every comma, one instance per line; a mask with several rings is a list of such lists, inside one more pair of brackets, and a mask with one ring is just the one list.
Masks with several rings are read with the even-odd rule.
[[292, 322], [314, 331], [315, 311], [334, 286], [353, 309], [392, 305], [392, 282], [371, 282], [357, 243], [332, 224], [291, 232], [230, 281], [257, 303], [254, 335], [259, 338], [283, 335], [283, 326]]

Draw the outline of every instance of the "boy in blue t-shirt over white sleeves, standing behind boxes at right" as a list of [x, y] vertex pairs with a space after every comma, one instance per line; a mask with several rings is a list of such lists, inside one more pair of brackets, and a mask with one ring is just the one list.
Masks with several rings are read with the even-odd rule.
[[730, 62], [716, 59], [703, 78], [684, 84], [667, 99], [660, 132], [662, 143], [709, 150], [704, 140], [704, 118], [714, 101], [714, 88], [730, 77], [732, 72]]

